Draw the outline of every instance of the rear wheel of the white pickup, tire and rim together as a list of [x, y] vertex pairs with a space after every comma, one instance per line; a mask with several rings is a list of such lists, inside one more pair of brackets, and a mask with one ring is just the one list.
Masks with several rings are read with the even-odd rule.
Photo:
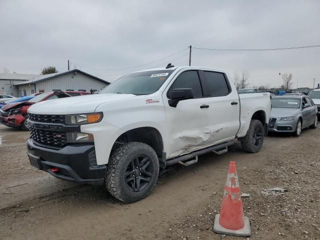
[[251, 120], [246, 135], [241, 139], [242, 149], [246, 152], [258, 152], [262, 146], [264, 129], [261, 121]]

